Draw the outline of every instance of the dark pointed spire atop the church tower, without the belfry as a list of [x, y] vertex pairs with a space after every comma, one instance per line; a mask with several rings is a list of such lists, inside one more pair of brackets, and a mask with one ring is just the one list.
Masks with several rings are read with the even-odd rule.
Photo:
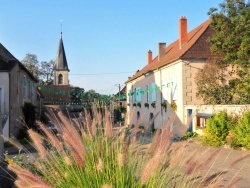
[[69, 71], [68, 63], [67, 63], [67, 59], [66, 59], [66, 54], [65, 54], [64, 46], [63, 46], [62, 32], [61, 32], [61, 38], [59, 41], [54, 70], [67, 70], [67, 71]]

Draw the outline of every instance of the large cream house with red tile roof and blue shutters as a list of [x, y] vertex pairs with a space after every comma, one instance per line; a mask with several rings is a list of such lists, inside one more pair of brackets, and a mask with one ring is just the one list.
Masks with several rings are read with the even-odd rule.
[[177, 116], [171, 123], [176, 126], [176, 134], [180, 136], [187, 129], [193, 131], [192, 121], [188, 128], [183, 124], [195, 113], [188, 105], [203, 104], [196, 97], [194, 79], [212, 57], [207, 42], [213, 33], [210, 22], [208, 19], [188, 32], [187, 19], [181, 17], [179, 39], [169, 45], [159, 43], [156, 57], [148, 51], [147, 65], [126, 81], [130, 124], [143, 117], [141, 125], [145, 127], [158, 114], [151, 129], [162, 128], [176, 110]]

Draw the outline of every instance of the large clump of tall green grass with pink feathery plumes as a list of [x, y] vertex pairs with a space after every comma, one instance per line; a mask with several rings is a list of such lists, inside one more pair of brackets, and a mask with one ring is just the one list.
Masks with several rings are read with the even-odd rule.
[[66, 118], [61, 112], [51, 113], [58, 134], [41, 122], [38, 124], [44, 135], [28, 131], [39, 157], [28, 164], [10, 162], [8, 168], [17, 174], [17, 187], [214, 187], [225, 173], [208, 175], [206, 171], [206, 165], [220, 149], [201, 164], [199, 151], [186, 157], [181, 142], [172, 146], [175, 129], [170, 131], [170, 125], [175, 114], [154, 133], [148, 145], [138, 140], [139, 123], [133, 129], [115, 129], [108, 110], [101, 115], [93, 107], [92, 116], [86, 110], [84, 114], [79, 121]]

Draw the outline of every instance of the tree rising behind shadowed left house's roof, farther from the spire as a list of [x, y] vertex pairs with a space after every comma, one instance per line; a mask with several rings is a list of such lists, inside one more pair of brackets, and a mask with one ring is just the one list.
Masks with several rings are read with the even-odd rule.
[[25, 58], [21, 60], [23, 65], [33, 74], [36, 79], [39, 79], [40, 75], [40, 65], [35, 54], [26, 54]]

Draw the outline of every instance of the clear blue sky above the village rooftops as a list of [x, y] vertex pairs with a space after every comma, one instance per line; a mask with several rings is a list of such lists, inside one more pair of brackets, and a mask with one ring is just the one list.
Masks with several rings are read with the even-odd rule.
[[115, 94], [147, 64], [158, 43], [178, 39], [178, 21], [188, 31], [206, 21], [223, 0], [0, 0], [0, 43], [17, 59], [56, 58], [60, 32], [70, 84]]

